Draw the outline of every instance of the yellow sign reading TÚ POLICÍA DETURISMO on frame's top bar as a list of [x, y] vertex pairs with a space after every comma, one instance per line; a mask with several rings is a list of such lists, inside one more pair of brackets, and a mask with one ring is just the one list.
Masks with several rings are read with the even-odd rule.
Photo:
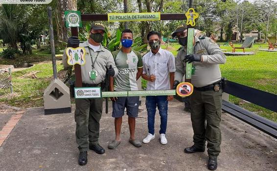
[[108, 21], [159, 21], [161, 13], [109, 13]]

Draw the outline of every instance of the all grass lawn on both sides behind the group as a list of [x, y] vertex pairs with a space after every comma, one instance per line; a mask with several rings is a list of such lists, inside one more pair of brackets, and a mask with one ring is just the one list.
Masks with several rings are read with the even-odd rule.
[[[231, 46], [223, 46], [220, 43], [220, 47], [225, 51], [231, 51]], [[240, 47], [241, 44], [235, 44]], [[174, 46], [164, 46], [171, 51], [175, 56], [177, 55], [177, 49], [180, 47], [178, 43]], [[250, 56], [227, 56], [226, 64], [220, 65], [222, 76], [226, 77], [232, 82], [236, 82], [242, 85], [254, 87], [263, 91], [277, 94], [277, 52], [265, 52], [258, 51], [258, 48], [267, 48], [267, 44], [254, 44], [254, 47], [247, 48], [246, 51], [253, 51], [256, 54]], [[239, 50], [238, 50], [239, 51]], [[61, 58], [61, 57], [59, 57]], [[48, 60], [48, 61], [47, 61]], [[36, 64], [35, 66], [12, 73], [12, 80], [14, 85], [14, 94], [10, 95], [9, 90], [0, 89], [0, 102], [6, 102], [11, 106], [16, 107], [39, 107], [43, 106], [43, 92], [49, 85], [52, 74], [51, 57], [48, 51], [33, 50], [33, 55], [27, 55], [24, 57], [18, 57], [14, 60], [0, 59], [0, 64], [20, 64], [23, 62], [32, 63], [38, 61], [46, 61], [42, 64]], [[57, 62], [58, 71], [63, 67]], [[40, 71], [37, 73], [37, 79], [20, 78], [22, 75], [32, 72]], [[142, 79], [142, 87], [146, 87], [146, 81]], [[263, 107], [258, 107], [254, 104], [242, 101], [239, 98], [230, 96], [230, 101], [236, 105], [244, 107], [250, 111], [253, 111], [263, 117], [277, 122], [277, 113], [267, 110]]]

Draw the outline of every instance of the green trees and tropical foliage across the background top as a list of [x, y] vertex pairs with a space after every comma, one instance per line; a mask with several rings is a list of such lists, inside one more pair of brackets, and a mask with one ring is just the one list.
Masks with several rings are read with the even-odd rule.
[[[76, 7], [82, 14], [121, 13], [124, 11], [123, 0], [69, 0], [70, 7]], [[64, 1], [52, 0], [47, 5], [0, 5], [0, 41], [1, 45], [31, 54], [32, 45], [40, 47], [39, 36], [48, 36], [48, 19], [46, 7], [52, 7], [54, 39], [56, 46], [64, 47], [70, 29], [64, 31], [62, 16], [65, 7]], [[72, 4], [71, 4], [72, 3]], [[74, 4], [73, 4], [74, 3]], [[187, 0], [127, 0], [128, 12], [161, 12], [184, 13], [188, 9]], [[68, 7], [69, 7], [68, 6]], [[277, 35], [277, 2], [273, 0], [193, 0], [193, 7], [200, 17], [196, 28], [206, 32], [209, 36], [220, 32], [220, 40], [230, 40], [234, 30], [242, 33], [258, 31], [258, 39], [265, 39], [268, 34]], [[269, 19], [269, 20], [268, 20]], [[171, 38], [175, 27], [185, 21], [139, 21], [128, 22], [128, 27], [134, 32], [134, 49], [146, 50], [146, 36], [151, 30], [161, 32], [162, 37]], [[119, 30], [124, 22], [103, 22], [108, 29], [103, 45], [110, 50], [120, 47]], [[91, 22], [85, 21], [84, 27], [79, 29], [79, 37], [88, 38], [88, 29]], [[224, 37], [223, 34], [226, 36]], [[139, 39], [139, 38], [140, 39]], [[49, 41], [47, 42], [49, 43]], [[143, 45], [143, 46], [141, 46]]]

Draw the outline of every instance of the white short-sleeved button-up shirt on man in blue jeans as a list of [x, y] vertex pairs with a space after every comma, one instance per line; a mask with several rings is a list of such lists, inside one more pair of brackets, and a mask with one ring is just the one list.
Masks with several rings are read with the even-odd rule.
[[147, 82], [146, 90], [168, 90], [170, 89], [169, 72], [175, 72], [174, 55], [160, 47], [156, 54], [152, 51], [146, 53], [142, 58], [143, 74], [155, 75], [155, 82]]

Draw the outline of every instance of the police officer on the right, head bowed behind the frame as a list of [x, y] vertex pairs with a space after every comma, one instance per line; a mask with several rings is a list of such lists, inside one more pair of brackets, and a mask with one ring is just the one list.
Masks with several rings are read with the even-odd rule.
[[[175, 85], [178, 85], [185, 74], [185, 64], [192, 63], [191, 83], [194, 91], [190, 96], [191, 122], [193, 128], [192, 147], [185, 153], [204, 152], [208, 142], [208, 169], [217, 169], [217, 156], [220, 153], [221, 131], [220, 117], [222, 106], [222, 85], [219, 64], [226, 62], [226, 56], [219, 46], [205, 36], [193, 39], [193, 54], [186, 55], [187, 26], [177, 27], [172, 37], [179, 39], [183, 46], [176, 57]], [[205, 127], [207, 121], [207, 127]]]

